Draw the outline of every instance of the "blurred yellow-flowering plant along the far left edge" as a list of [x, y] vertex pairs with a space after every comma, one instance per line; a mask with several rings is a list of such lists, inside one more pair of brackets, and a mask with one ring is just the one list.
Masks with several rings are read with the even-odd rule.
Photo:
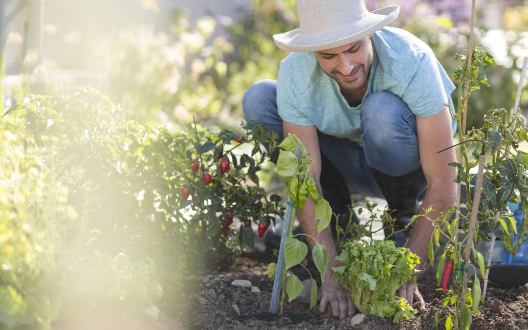
[[49, 328], [59, 310], [55, 256], [76, 212], [17, 120], [0, 121], [0, 328]]

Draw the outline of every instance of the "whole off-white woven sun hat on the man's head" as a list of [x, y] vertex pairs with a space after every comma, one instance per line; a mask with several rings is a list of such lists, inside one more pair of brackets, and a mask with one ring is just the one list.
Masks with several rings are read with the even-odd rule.
[[273, 36], [280, 49], [309, 52], [346, 45], [398, 17], [399, 6], [369, 12], [363, 0], [297, 0], [299, 29]]

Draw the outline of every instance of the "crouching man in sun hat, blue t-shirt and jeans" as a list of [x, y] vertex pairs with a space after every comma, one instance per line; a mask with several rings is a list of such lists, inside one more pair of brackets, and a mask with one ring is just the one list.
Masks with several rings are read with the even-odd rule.
[[[363, 0], [298, 0], [297, 11], [300, 29], [274, 36], [291, 53], [277, 82], [260, 81], [246, 92], [246, 118], [281, 137], [297, 134], [314, 162], [319, 194], [335, 213], [346, 210], [351, 194], [385, 197], [400, 227], [428, 206], [438, 210], [431, 219], [454, 206], [456, 169], [447, 166], [454, 152], [437, 153], [453, 144], [446, 104], [454, 86], [425, 43], [385, 27], [399, 7], [368, 12]], [[301, 228], [327, 247], [329, 266], [340, 266], [331, 230], [317, 235], [314, 210], [308, 201], [298, 213]], [[432, 229], [421, 216], [400, 242], [420, 257], [419, 267]], [[328, 269], [319, 312], [330, 304], [334, 317], [354, 315], [350, 294]], [[416, 284], [398, 294], [425, 308]]]

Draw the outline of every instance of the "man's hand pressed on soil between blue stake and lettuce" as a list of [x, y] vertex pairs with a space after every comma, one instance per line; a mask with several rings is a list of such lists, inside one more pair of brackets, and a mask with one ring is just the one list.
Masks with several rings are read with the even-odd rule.
[[326, 306], [330, 304], [332, 315], [335, 318], [344, 319], [347, 316], [354, 316], [356, 309], [352, 303], [352, 297], [343, 285], [336, 282], [334, 274], [327, 274], [321, 291], [323, 296], [319, 303], [320, 313], [325, 313]]

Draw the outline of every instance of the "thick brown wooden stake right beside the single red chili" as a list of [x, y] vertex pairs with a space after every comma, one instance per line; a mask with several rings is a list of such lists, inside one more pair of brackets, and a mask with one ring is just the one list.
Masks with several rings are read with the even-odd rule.
[[464, 268], [462, 269], [462, 299], [460, 304], [460, 315], [462, 315], [462, 309], [466, 306], [466, 288], [467, 288], [467, 277], [468, 277], [468, 265], [469, 255], [471, 253], [471, 246], [473, 245], [473, 237], [475, 235], [475, 227], [477, 224], [478, 205], [480, 203], [480, 190], [482, 189], [482, 178], [484, 176], [484, 165], [486, 157], [480, 155], [478, 157], [478, 174], [477, 183], [475, 185], [475, 194], [473, 196], [473, 202], [471, 205], [471, 215], [469, 216], [469, 228], [466, 238], [466, 249], [464, 250]]

